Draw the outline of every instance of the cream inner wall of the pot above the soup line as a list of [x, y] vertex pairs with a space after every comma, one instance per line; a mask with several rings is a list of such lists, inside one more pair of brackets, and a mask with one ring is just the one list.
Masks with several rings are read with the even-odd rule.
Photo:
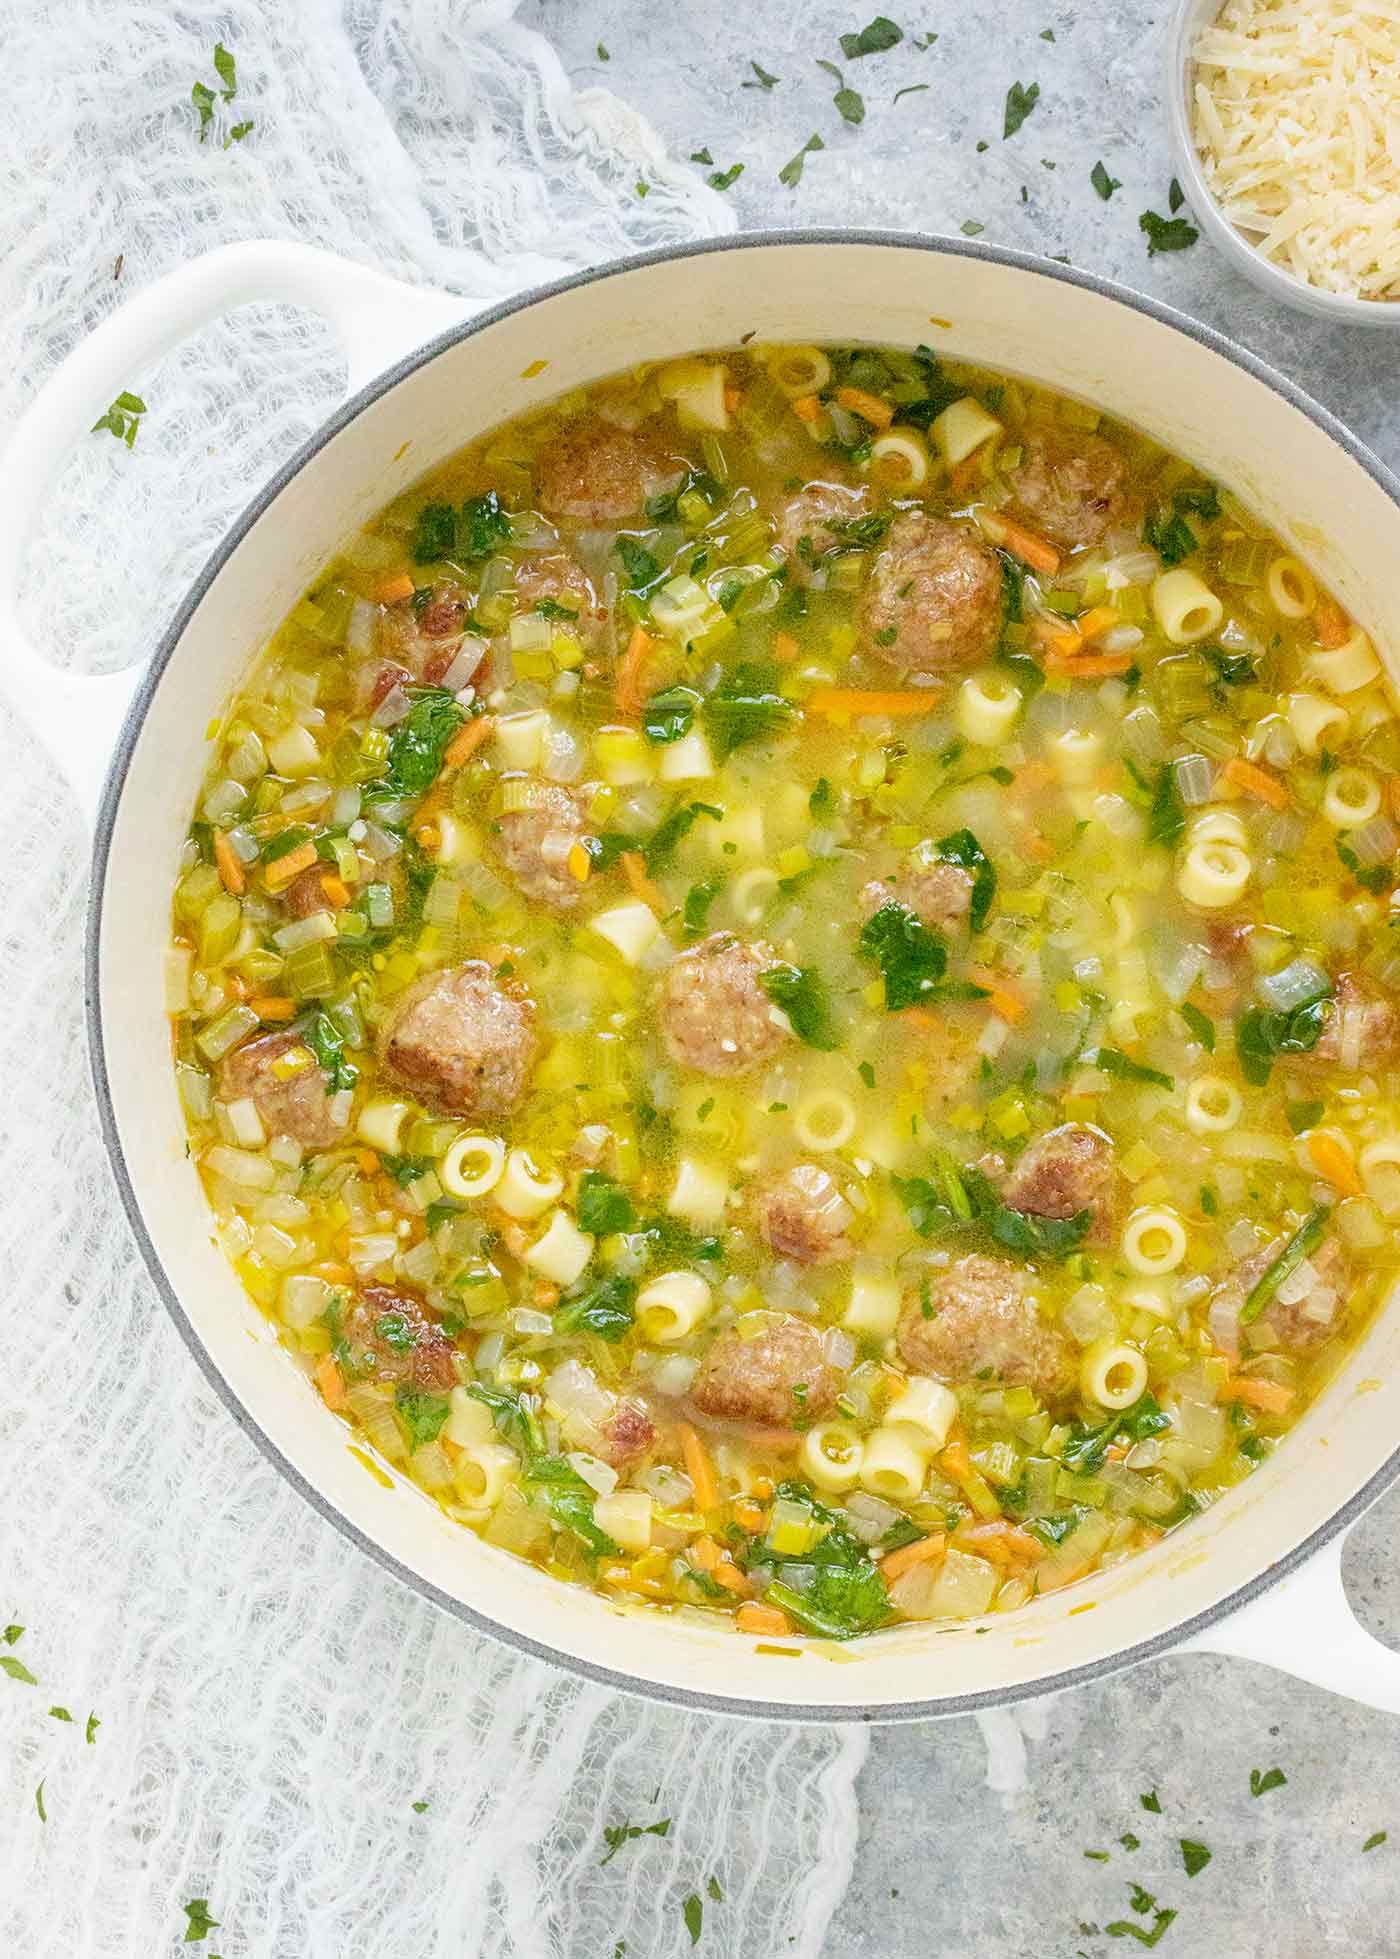
[[[910, 1626], [840, 1659], [623, 1614], [491, 1552], [421, 1493], [376, 1479], [280, 1352], [210, 1238], [168, 1066], [166, 866], [204, 770], [204, 729], [266, 635], [358, 523], [484, 427], [636, 360], [742, 337], [930, 343], [1032, 376], [1149, 431], [1286, 535], [1400, 645], [1400, 511], [1265, 382], [1122, 302], [1024, 264], [901, 243], [756, 243], [640, 264], [546, 296], [439, 351], [345, 421], [243, 523], [168, 648], [100, 860], [100, 1019], [112, 1124], [164, 1283], [206, 1365], [329, 1512], [443, 1602], [656, 1693], [773, 1710], [899, 1712], [1032, 1691], [1208, 1612], [1373, 1479], [1400, 1434], [1400, 1316], [1386, 1314], [1286, 1448], [1206, 1518], [1130, 1565], [987, 1630]], [[531, 374], [537, 362], [546, 366]], [[129, 754], [127, 754], [129, 750]], [[153, 874], [155, 866], [155, 874]], [[627, 1681], [623, 1681], [627, 1685]]]

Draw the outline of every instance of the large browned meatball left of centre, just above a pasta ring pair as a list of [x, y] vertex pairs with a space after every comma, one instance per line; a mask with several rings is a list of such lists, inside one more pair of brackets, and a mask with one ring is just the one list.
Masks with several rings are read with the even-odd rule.
[[443, 1115], [505, 1115], [535, 1064], [535, 1001], [507, 991], [484, 960], [423, 974], [380, 1028], [384, 1072]]

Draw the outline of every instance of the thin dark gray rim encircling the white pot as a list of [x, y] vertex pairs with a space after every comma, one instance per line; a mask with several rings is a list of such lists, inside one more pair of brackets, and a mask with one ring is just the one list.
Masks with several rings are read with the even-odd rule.
[[145, 1258], [151, 1279], [155, 1281], [161, 1299], [170, 1313], [184, 1344], [202, 1367], [206, 1379], [215, 1389], [223, 1405], [227, 1407], [233, 1420], [243, 1428], [243, 1432], [257, 1444], [257, 1448], [272, 1461], [280, 1473], [300, 1491], [300, 1495], [345, 1538], [349, 1538], [358, 1550], [380, 1563], [386, 1571], [392, 1571], [397, 1579], [409, 1585], [413, 1591], [431, 1599], [433, 1604], [450, 1612], [454, 1618], [472, 1626], [476, 1632], [488, 1638], [499, 1640], [507, 1646], [517, 1648], [523, 1653], [531, 1653], [535, 1659], [544, 1659], [550, 1665], [564, 1667], [568, 1673], [582, 1675], [585, 1679], [597, 1681], [603, 1687], [611, 1687], [619, 1693], [640, 1695], [646, 1700], [666, 1700], [674, 1706], [685, 1708], [707, 1708], [713, 1714], [732, 1714], [746, 1716], [752, 1720], [779, 1720], [779, 1722], [912, 1722], [912, 1720], [936, 1720], [952, 1714], [973, 1714], [981, 1708], [993, 1706], [1012, 1706], [1016, 1700], [1034, 1700], [1040, 1695], [1059, 1693], [1065, 1687], [1081, 1687], [1087, 1681], [1104, 1679], [1110, 1673], [1120, 1673], [1124, 1667], [1140, 1665], [1145, 1659], [1153, 1659], [1159, 1653], [1169, 1653], [1183, 1640], [1192, 1634], [1204, 1632], [1218, 1620], [1228, 1618], [1239, 1606], [1247, 1604], [1267, 1591], [1284, 1573], [1294, 1571], [1298, 1565], [1306, 1563], [1314, 1552], [1322, 1550], [1337, 1532], [1353, 1524], [1363, 1510], [1367, 1510], [1377, 1497], [1390, 1487], [1390, 1483], [1400, 1475], [1400, 1448], [1377, 1469], [1377, 1473], [1345, 1503], [1331, 1518], [1322, 1524], [1312, 1536], [1304, 1538], [1286, 1557], [1271, 1565], [1259, 1577], [1249, 1579], [1237, 1591], [1230, 1593], [1218, 1604], [1206, 1612], [1198, 1612], [1194, 1618], [1183, 1620], [1183, 1624], [1173, 1626], [1169, 1632], [1159, 1632], [1151, 1640], [1142, 1640], [1136, 1646], [1122, 1648], [1104, 1659], [1089, 1661], [1081, 1667], [1065, 1667], [1059, 1673], [1048, 1673], [1042, 1679], [1006, 1687], [987, 1689], [975, 1695], [956, 1695], [944, 1700], [909, 1700], [909, 1702], [875, 1702], [871, 1706], [820, 1706], [820, 1704], [783, 1704], [768, 1700], [746, 1700], [746, 1698], [723, 1698], [719, 1695], [697, 1693], [685, 1687], [668, 1687], [656, 1681], [642, 1681], [630, 1673], [615, 1673], [611, 1667], [597, 1667], [589, 1661], [576, 1659], [570, 1653], [562, 1653], [556, 1648], [544, 1644], [542, 1640], [533, 1640], [527, 1634], [513, 1632], [507, 1626], [499, 1626], [495, 1620], [482, 1616], [464, 1604], [460, 1599], [450, 1599], [437, 1585], [419, 1577], [407, 1565], [399, 1563], [392, 1552], [382, 1544], [376, 1544], [362, 1530], [358, 1530], [347, 1516], [343, 1516], [325, 1497], [315, 1491], [305, 1477], [286, 1459], [282, 1450], [276, 1446], [272, 1436], [268, 1436], [249, 1414], [243, 1403], [237, 1399], [229, 1383], [223, 1379], [213, 1360], [206, 1352], [200, 1336], [196, 1334], [190, 1318], [180, 1305], [180, 1299], [166, 1277], [161, 1256], [151, 1242], [145, 1228], [145, 1218], [141, 1215], [141, 1205], [137, 1201], [135, 1189], [131, 1185], [131, 1175], [121, 1154], [121, 1140], [117, 1136], [116, 1109], [112, 1105], [112, 1087], [108, 1079], [106, 1050], [102, 1040], [102, 1013], [98, 1007], [100, 999], [100, 980], [102, 980], [102, 901], [106, 893], [108, 860], [112, 850], [112, 831], [116, 825], [117, 807], [121, 803], [121, 789], [125, 786], [127, 766], [141, 739], [141, 727], [145, 723], [147, 707], [161, 686], [161, 678], [174, 658], [180, 645], [180, 637], [194, 615], [196, 607], [204, 599], [210, 584], [223, 568], [229, 554], [243, 541], [243, 537], [253, 529], [253, 525], [262, 517], [262, 513], [276, 502], [280, 492], [288, 482], [302, 470], [302, 466], [317, 454], [317, 451], [337, 435], [347, 423], [350, 423], [362, 407], [370, 402], [378, 402], [392, 388], [397, 386], [407, 374], [435, 360], [437, 355], [444, 353], [448, 347], [456, 347], [462, 341], [472, 339], [472, 335], [495, 325], [501, 319], [509, 319], [515, 313], [527, 311], [537, 300], [554, 298], [556, 294], [574, 292], [580, 286], [589, 286], [599, 280], [617, 278], [621, 274], [638, 270], [648, 264], [664, 264], [672, 259], [697, 259], [703, 253], [723, 253], [723, 251], [773, 251], [783, 245], [881, 245], [899, 251], [922, 251], [932, 255], [948, 255], [957, 259], [983, 259], [993, 264], [1008, 264], [1018, 272], [1030, 272], [1036, 278], [1061, 280], [1067, 286], [1081, 286], [1085, 292], [1093, 292], [1098, 298], [1116, 300], [1120, 306], [1134, 308], [1140, 313], [1159, 321], [1165, 327], [1173, 327], [1177, 333], [1185, 333], [1189, 339], [1212, 353], [1222, 355], [1234, 366], [1241, 368], [1245, 374], [1273, 388], [1275, 394], [1283, 396], [1292, 407], [1296, 407], [1308, 421], [1316, 423], [1337, 443], [1353, 462], [1357, 462], [1390, 498], [1390, 502], [1400, 509], [1400, 480], [1375, 456], [1363, 443], [1357, 441], [1326, 407], [1314, 402], [1308, 394], [1296, 388], [1290, 380], [1271, 368], [1265, 360], [1228, 341], [1222, 333], [1212, 327], [1202, 325], [1185, 313], [1175, 311], [1175, 308], [1163, 306], [1145, 294], [1134, 292], [1130, 286], [1118, 286], [1114, 280], [1097, 278], [1091, 272], [1079, 272], [1073, 268], [1061, 268], [1057, 264], [1048, 264], [1044, 259], [1036, 259], [1030, 253], [1008, 251], [997, 245], [975, 245], [963, 243], [959, 239], [944, 237], [920, 237], [903, 231], [834, 231], [834, 229], [813, 229], [813, 231], [781, 231], [781, 233], [762, 233], [746, 231], [736, 237], [726, 239], [701, 239], [693, 245], [679, 245], [666, 251], [638, 253], [630, 259], [611, 261], [605, 266], [595, 266], [587, 272], [578, 272], [574, 278], [556, 280], [552, 286], [538, 286], [517, 300], [507, 300], [501, 306], [491, 308], [486, 313], [474, 315], [460, 327], [450, 327], [437, 339], [427, 341], [415, 353], [407, 355], [396, 366], [388, 368], [378, 380], [360, 388], [358, 394], [350, 396], [323, 425], [321, 429], [292, 456], [282, 468], [272, 476], [272, 480], [258, 492], [258, 496], [249, 503], [243, 515], [237, 519], [225, 541], [213, 552], [210, 562], [204, 566], [182, 605], [178, 607], [170, 627], [166, 629], [155, 656], [141, 676], [141, 684], [135, 692], [131, 707], [127, 711], [121, 735], [117, 739], [116, 754], [108, 770], [108, 778], [102, 789], [102, 801], [98, 805], [96, 835], [92, 844], [92, 885], [88, 891], [88, 923], [86, 923], [86, 952], [84, 952], [84, 1011], [88, 1023], [88, 1052], [92, 1060], [92, 1079], [98, 1097], [98, 1117], [102, 1123], [102, 1136], [108, 1146], [108, 1156], [112, 1158], [112, 1170], [117, 1179], [117, 1191], [121, 1193], [121, 1205], [125, 1209], [127, 1220], [135, 1234], [135, 1240]]

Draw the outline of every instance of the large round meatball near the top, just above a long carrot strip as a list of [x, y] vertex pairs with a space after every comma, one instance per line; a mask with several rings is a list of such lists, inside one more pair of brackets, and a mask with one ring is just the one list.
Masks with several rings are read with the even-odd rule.
[[920, 509], [895, 519], [862, 601], [867, 654], [914, 674], [979, 666], [1001, 619], [1001, 560], [977, 531]]

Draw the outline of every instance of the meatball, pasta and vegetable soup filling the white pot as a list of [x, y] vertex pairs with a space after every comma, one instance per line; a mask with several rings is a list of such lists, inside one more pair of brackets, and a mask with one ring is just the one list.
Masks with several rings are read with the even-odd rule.
[[607, 380], [356, 535], [210, 752], [219, 1244], [307, 1422], [560, 1579], [1014, 1610], [1267, 1461], [1394, 1277], [1377, 654], [1093, 406]]

